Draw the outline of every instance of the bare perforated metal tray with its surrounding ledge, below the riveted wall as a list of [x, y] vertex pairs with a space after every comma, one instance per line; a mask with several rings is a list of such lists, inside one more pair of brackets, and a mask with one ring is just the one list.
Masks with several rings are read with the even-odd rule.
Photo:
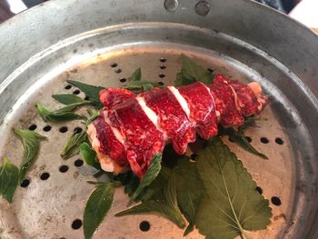
[[[268, 161], [247, 154], [224, 139], [253, 174], [263, 195], [270, 201], [277, 196], [282, 202], [279, 206], [270, 204], [273, 223], [267, 230], [251, 233], [252, 238], [300, 238], [309, 231], [315, 220], [317, 179], [316, 129], [310, 124], [309, 114], [315, 117], [317, 112], [303, 114], [303, 107], [314, 109], [314, 96], [303, 94], [305, 86], [293, 69], [231, 35], [194, 25], [148, 22], [107, 26], [74, 35], [33, 55], [1, 82], [0, 105], [6, 104], [0, 114], [0, 157], [7, 155], [15, 164], [23, 159], [13, 127], [35, 124], [35, 131], [48, 140], [27, 175], [30, 184], [17, 189], [14, 204], [0, 199], [0, 238], [83, 238], [82, 227], [75, 230], [72, 223], [83, 217], [84, 203], [93, 190], [85, 181], [93, 179], [94, 171], [86, 165], [75, 166], [79, 156], [68, 161], [59, 157], [66, 138], [75, 127], [83, 125], [79, 121], [49, 124], [52, 129], [45, 132], [47, 124], [36, 114], [35, 102], [58, 107], [51, 95], [74, 93], [75, 87], [65, 89], [69, 78], [105, 87], [123, 86], [124, 79], [128, 80], [137, 67], [142, 67], [145, 79], [171, 85], [181, 67], [182, 53], [229, 77], [258, 81], [270, 96], [271, 103], [263, 111], [268, 121], [247, 131], [252, 144], [269, 156]], [[116, 67], [111, 66], [114, 63]], [[116, 73], [118, 69], [120, 73]], [[66, 133], [60, 133], [62, 126], [67, 127]], [[268, 139], [268, 144], [261, 142], [262, 137]], [[283, 144], [275, 143], [276, 138], [283, 139]], [[59, 167], [64, 164], [69, 169], [61, 173]], [[43, 173], [50, 177], [41, 180]], [[159, 216], [114, 218], [126, 203], [123, 191], [117, 190], [114, 205], [94, 238], [183, 237], [182, 230]], [[139, 229], [144, 220], [151, 224], [147, 232]], [[194, 232], [186, 238], [200, 235]]]

